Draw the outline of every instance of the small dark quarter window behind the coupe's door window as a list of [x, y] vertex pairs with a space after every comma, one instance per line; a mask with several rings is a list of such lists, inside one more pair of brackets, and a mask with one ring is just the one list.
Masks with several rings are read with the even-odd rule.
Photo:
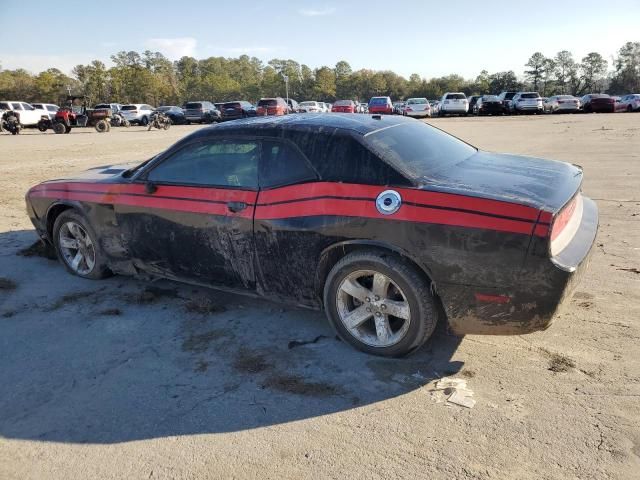
[[296, 148], [272, 140], [262, 142], [261, 187], [279, 187], [317, 178], [307, 159]]

